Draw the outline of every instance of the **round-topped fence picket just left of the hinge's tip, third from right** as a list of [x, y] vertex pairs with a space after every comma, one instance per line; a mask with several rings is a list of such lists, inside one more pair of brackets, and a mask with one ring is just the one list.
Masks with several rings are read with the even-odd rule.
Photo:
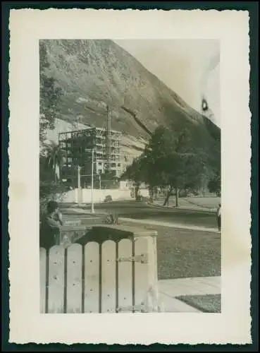
[[101, 259], [101, 311], [116, 312], [116, 242], [104, 241]]

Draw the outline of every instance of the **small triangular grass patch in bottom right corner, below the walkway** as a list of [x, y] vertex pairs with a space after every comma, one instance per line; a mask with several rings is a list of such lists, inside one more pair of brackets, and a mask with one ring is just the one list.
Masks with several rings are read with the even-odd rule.
[[221, 313], [221, 294], [182, 295], [176, 298], [204, 313]]

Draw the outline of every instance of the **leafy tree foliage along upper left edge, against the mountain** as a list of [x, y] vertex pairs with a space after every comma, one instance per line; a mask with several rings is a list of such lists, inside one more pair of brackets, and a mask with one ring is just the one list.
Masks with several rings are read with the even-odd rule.
[[47, 47], [39, 41], [39, 140], [46, 139], [47, 128], [53, 129], [55, 119], [59, 116], [58, 103], [62, 90], [57, 80], [51, 76]]

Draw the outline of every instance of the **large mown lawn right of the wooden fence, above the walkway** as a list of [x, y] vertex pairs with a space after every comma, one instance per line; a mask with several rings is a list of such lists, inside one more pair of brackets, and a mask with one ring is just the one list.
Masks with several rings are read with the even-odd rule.
[[[78, 218], [78, 217], [77, 217]], [[99, 218], [82, 217], [82, 224], [100, 224]], [[133, 227], [132, 222], [124, 225]], [[159, 280], [221, 275], [221, 234], [171, 227], [135, 224], [155, 229]]]

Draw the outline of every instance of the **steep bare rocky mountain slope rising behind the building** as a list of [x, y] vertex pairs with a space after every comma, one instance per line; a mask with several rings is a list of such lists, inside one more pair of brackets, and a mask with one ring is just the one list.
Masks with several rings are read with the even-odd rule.
[[[189, 128], [194, 143], [205, 149], [220, 136], [220, 129], [206, 116], [192, 109], [112, 40], [42, 42], [47, 48], [51, 76], [63, 90], [59, 106], [63, 121], [106, 127], [109, 105], [111, 128], [121, 131], [123, 145], [133, 150], [136, 140], [145, 143], [159, 124], [173, 126], [173, 131]], [[135, 141], [132, 145], [130, 136]]]

